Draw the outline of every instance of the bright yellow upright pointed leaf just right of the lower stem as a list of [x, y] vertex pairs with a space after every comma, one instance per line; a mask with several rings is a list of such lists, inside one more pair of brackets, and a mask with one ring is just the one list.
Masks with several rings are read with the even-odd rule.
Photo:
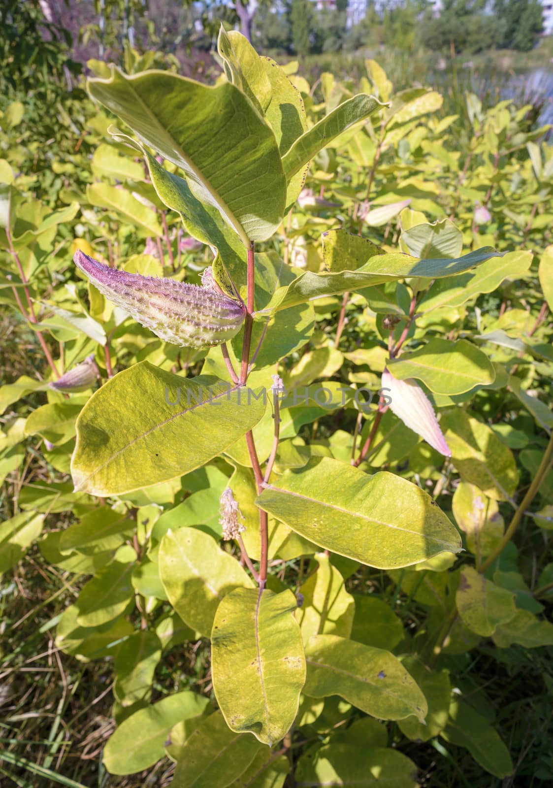
[[350, 637], [354, 598], [347, 593], [342, 575], [324, 552], [317, 552], [314, 559], [318, 564], [317, 570], [299, 587], [303, 602], [296, 617], [303, 642], [321, 634]]

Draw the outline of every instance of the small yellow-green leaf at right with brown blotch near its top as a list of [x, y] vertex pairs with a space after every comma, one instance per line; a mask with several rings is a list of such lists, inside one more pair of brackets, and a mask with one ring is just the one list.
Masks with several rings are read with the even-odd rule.
[[507, 623], [516, 612], [514, 594], [472, 567], [463, 567], [455, 601], [462, 623], [483, 637], [489, 637], [498, 624]]

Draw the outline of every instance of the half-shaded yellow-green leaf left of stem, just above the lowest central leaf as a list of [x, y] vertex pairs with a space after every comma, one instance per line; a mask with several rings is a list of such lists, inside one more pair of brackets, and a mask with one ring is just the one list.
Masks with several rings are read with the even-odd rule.
[[159, 575], [169, 602], [193, 630], [210, 637], [221, 600], [254, 584], [236, 558], [196, 528], [169, 531], [159, 548]]

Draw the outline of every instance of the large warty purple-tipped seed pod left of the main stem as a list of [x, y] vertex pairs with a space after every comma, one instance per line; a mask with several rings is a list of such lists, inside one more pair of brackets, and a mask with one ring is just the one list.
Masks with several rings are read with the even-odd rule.
[[210, 286], [118, 271], [82, 251], [73, 260], [106, 298], [165, 342], [197, 349], [221, 344], [236, 336], [246, 316], [243, 303]]

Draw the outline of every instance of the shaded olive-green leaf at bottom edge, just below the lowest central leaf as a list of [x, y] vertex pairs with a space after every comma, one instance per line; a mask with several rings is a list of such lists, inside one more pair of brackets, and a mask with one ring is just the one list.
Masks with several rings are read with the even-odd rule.
[[250, 734], [231, 730], [220, 712], [210, 715], [187, 738], [177, 761], [172, 788], [226, 788], [250, 766], [261, 745]]

